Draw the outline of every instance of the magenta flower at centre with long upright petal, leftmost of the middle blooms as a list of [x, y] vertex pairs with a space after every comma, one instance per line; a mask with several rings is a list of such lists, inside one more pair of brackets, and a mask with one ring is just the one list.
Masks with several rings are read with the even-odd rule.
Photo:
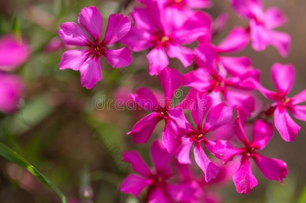
[[185, 121], [182, 121], [183, 109], [171, 106], [172, 98], [181, 85], [181, 74], [176, 69], [165, 68], [159, 79], [165, 92], [165, 100], [159, 101], [147, 88], [138, 88], [136, 93], [131, 95], [137, 105], [151, 113], [139, 120], [127, 134], [133, 136], [134, 142], [145, 143], [156, 125], [165, 120], [163, 144], [172, 153], [180, 145], [177, 127], [185, 127]]

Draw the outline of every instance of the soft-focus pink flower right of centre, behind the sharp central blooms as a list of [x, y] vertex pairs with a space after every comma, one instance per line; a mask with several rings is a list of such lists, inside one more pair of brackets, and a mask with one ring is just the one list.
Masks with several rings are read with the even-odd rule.
[[[213, 64], [206, 63], [212, 59], [209, 57], [213, 55], [214, 51], [215, 48], [211, 46], [204, 44], [199, 46], [197, 49], [197, 55], [199, 56], [197, 57], [197, 64], [200, 68], [183, 75], [182, 85], [193, 87], [199, 91], [207, 91], [213, 97], [215, 105], [225, 101], [228, 106], [233, 109], [240, 108], [246, 116], [250, 116], [255, 109], [255, 100], [249, 90], [254, 89], [254, 87], [243, 82], [248, 78], [259, 79], [259, 72], [242, 65], [243, 63], [249, 65], [249, 60], [246, 58], [240, 58], [238, 59], [239, 62], [234, 62], [235, 59], [233, 57], [227, 57], [227, 59], [222, 57], [221, 63], [225, 60], [231, 61], [231, 70], [234, 70], [234, 68], [236, 71], [241, 70], [236, 73], [230, 72], [235, 77], [227, 77], [224, 64], [220, 65], [219, 68], [216, 67], [216, 56], [213, 56], [214, 60], [211, 61]], [[221, 59], [221, 57], [218, 59]], [[228, 68], [227, 70], [230, 69]]]

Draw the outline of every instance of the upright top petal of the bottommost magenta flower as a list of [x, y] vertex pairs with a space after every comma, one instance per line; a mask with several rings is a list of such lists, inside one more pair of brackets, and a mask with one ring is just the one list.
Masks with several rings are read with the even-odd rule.
[[162, 175], [164, 178], [171, 177], [172, 156], [159, 141], [155, 141], [151, 145], [151, 159], [158, 174]]

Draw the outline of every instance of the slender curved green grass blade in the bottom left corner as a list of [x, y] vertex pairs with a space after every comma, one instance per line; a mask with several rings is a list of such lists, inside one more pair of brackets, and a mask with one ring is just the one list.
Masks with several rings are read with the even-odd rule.
[[45, 185], [51, 187], [61, 198], [63, 203], [67, 203], [67, 199], [65, 195], [55, 186], [46, 176], [44, 176], [41, 172], [39, 172], [29, 161], [19, 155], [17, 152], [12, 150], [7, 145], [0, 142], [0, 155], [16, 163], [17, 165], [27, 169], [32, 175], [37, 177], [41, 182]]

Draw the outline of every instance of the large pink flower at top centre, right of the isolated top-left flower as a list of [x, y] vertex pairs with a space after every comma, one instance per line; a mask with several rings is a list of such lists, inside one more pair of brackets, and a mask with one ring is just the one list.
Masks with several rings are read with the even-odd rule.
[[131, 13], [135, 26], [121, 40], [134, 52], [152, 48], [147, 54], [149, 74], [158, 75], [168, 67], [170, 58], [178, 58], [184, 67], [193, 62], [193, 52], [183, 45], [195, 42], [210, 32], [211, 19], [197, 12], [180, 28], [174, 26], [173, 17], [167, 19], [164, 8], [157, 2], [146, 8], [136, 8]]

